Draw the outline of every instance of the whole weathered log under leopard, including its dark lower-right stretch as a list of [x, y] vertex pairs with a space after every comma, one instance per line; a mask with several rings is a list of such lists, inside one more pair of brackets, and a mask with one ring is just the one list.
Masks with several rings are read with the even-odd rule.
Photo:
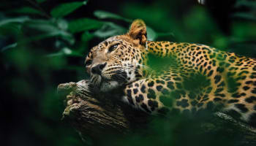
[[[113, 99], [111, 94], [102, 98], [100, 94], [91, 91], [88, 80], [58, 86], [58, 93], [63, 97], [61, 99], [66, 105], [62, 120], [70, 123], [85, 142], [89, 142], [89, 137], [94, 144], [97, 144], [102, 139], [102, 135], [126, 137], [138, 129], [147, 129], [148, 123], [155, 118]], [[197, 128], [200, 131], [197, 133], [199, 135], [222, 129], [225, 134], [240, 135], [241, 139], [238, 139], [237, 145], [256, 145], [256, 128], [222, 112], [214, 113], [212, 118], [202, 121]]]

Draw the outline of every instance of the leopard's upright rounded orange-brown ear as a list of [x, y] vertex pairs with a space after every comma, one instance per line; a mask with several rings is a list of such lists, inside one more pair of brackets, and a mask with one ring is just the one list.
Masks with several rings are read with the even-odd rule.
[[140, 19], [134, 20], [129, 28], [128, 35], [135, 39], [136, 42], [139, 42], [140, 45], [146, 45], [147, 31], [144, 21]]

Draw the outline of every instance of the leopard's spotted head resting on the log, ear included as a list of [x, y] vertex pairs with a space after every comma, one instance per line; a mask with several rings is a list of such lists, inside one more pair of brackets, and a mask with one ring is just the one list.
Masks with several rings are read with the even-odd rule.
[[92, 85], [110, 91], [145, 75], [146, 25], [135, 20], [127, 34], [110, 37], [91, 48], [86, 56], [86, 71]]

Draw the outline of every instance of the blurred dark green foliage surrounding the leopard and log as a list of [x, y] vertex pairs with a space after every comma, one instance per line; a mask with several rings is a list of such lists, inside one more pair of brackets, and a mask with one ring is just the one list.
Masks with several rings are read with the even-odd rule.
[[[256, 57], [255, 1], [3, 0], [0, 8], [1, 138], [8, 145], [85, 145], [61, 122], [64, 104], [56, 87], [88, 77], [83, 61], [89, 49], [124, 34], [136, 18], [145, 20], [149, 40], [196, 42]], [[171, 125], [154, 120], [145, 132], [102, 145], [233, 145], [238, 138], [219, 137], [222, 131], [194, 137], [195, 127], [179, 117]]]

